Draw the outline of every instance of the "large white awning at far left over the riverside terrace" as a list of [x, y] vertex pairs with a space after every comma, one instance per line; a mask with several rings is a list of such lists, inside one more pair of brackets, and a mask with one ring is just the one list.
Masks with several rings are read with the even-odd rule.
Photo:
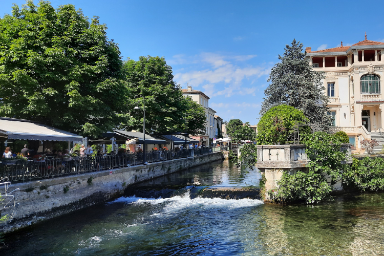
[[30, 120], [0, 117], [0, 137], [18, 140], [82, 141], [77, 134]]

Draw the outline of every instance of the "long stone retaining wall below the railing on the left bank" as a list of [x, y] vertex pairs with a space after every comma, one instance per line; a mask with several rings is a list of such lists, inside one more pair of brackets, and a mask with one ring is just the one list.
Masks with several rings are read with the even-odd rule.
[[[11, 222], [0, 224], [0, 233], [119, 197], [130, 184], [223, 158], [222, 152], [215, 152], [147, 165], [12, 184], [8, 191], [20, 189], [17, 199], [20, 207]], [[1, 211], [2, 216], [7, 213], [10, 212]]]

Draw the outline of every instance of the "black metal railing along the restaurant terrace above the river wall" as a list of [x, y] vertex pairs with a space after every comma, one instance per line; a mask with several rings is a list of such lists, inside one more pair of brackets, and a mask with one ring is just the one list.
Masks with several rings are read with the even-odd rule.
[[[192, 157], [193, 155], [204, 155], [212, 152], [211, 147], [145, 152], [147, 163], [167, 161], [178, 158]], [[120, 167], [129, 167], [143, 163], [143, 153], [131, 154], [108, 154], [97, 156], [71, 157], [71, 158], [48, 158], [44, 161], [13, 160], [0, 162], [0, 180], [8, 177], [9, 181], [24, 182], [41, 180], [59, 176], [76, 175], [99, 170], [108, 170]]]

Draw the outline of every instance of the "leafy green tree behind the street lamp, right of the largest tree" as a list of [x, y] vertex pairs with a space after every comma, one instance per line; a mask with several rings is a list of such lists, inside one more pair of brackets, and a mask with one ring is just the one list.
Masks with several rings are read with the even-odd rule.
[[142, 131], [143, 113], [134, 108], [145, 104], [147, 133], [185, 130], [190, 134], [201, 133], [205, 124], [204, 108], [183, 96], [164, 57], [141, 56], [138, 61], [127, 60], [123, 69], [130, 94], [124, 103], [127, 118], [121, 125], [124, 129]]

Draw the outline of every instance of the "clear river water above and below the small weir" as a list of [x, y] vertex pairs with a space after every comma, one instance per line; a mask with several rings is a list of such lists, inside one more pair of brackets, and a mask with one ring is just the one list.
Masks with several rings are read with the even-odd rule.
[[161, 186], [258, 186], [259, 179], [227, 161], [171, 174], [8, 234], [0, 255], [384, 255], [384, 194], [290, 206], [191, 197], [188, 189], [169, 198], [132, 195]]

